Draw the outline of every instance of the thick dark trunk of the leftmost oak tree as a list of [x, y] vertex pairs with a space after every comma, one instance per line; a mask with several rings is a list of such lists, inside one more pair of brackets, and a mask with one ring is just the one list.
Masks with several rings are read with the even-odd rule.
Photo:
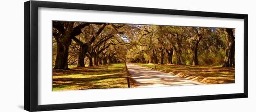
[[57, 55], [55, 59], [54, 69], [68, 69], [67, 57], [68, 57], [68, 46], [61, 43], [57, 43]]

